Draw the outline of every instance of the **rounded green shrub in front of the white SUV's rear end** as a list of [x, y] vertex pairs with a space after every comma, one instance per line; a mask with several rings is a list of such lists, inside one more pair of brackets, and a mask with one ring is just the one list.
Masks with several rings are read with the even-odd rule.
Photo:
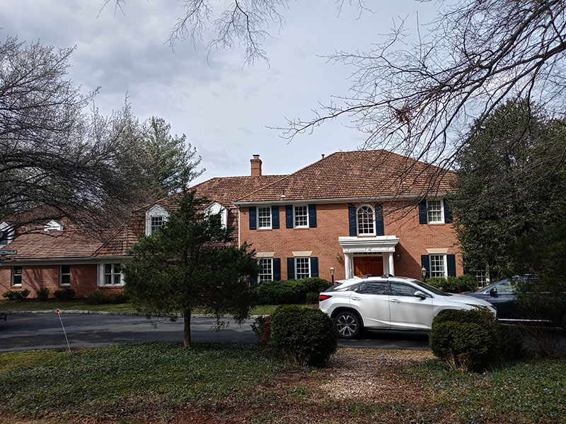
[[320, 365], [336, 350], [335, 325], [318, 309], [284, 305], [273, 312], [270, 325], [272, 350], [290, 363]]

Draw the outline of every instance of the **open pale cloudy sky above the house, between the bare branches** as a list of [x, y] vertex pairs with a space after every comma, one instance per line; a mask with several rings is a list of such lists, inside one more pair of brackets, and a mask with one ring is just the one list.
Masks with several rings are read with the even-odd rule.
[[112, 7], [100, 11], [100, 3], [0, 0], [0, 37], [76, 46], [72, 81], [85, 92], [100, 87], [96, 106], [105, 114], [120, 109], [127, 95], [141, 120], [163, 117], [174, 133], [186, 134], [207, 168], [197, 182], [249, 175], [254, 154], [264, 174], [287, 174], [321, 154], [356, 150], [364, 137], [347, 121], [327, 122], [291, 143], [267, 126], [284, 126], [286, 117], [311, 117], [318, 102], [347, 95], [352, 69], [323, 56], [369, 49], [398, 18], [415, 32], [417, 19], [430, 20], [436, 6], [381, 0], [374, 13], [359, 16], [354, 6], [345, 6], [338, 16], [334, 1], [291, 1], [282, 12], [283, 28], [271, 28], [263, 46], [270, 63], [243, 66], [243, 49], [207, 54], [206, 40], [195, 46], [178, 42], [171, 50], [167, 39], [182, 13], [180, 1], [129, 0], [123, 14]]

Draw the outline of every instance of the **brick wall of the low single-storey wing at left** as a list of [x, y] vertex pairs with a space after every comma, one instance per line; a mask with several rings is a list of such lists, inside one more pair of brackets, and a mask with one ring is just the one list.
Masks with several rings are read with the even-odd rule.
[[72, 288], [76, 298], [84, 298], [88, 293], [103, 290], [104, 293], [122, 291], [122, 287], [98, 287], [96, 264], [71, 265], [71, 285], [59, 285], [59, 265], [22, 265], [21, 287], [11, 286], [11, 266], [4, 264], [0, 267], [0, 293], [7, 290], [30, 290], [28, 298], [36, 298], [37, 290], [48, 288], [50, 298], [55, 290]]

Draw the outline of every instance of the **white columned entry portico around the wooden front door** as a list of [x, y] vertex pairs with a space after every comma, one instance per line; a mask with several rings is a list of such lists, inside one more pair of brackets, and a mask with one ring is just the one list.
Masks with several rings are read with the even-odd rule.
[[344, 266], [346, 278], [352, 278], [354, 273], [353, 258], [355, 254], [376, 254], [383, 256], [383, 272], [395, 275], [393, 254], [399, 237], [395, 235], [379, 235], [377, 237], [338, 237], [338, 242], [344, 251]]

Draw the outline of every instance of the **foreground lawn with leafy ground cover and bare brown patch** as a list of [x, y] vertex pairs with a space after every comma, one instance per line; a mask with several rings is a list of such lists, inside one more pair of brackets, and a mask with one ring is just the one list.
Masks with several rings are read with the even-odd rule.
[[338, 349], [289, 367], [258, 346], [146, 343], [0, 354], [4, 423], [563, 423], [566, 362], [483, 374], [429, 351]]

